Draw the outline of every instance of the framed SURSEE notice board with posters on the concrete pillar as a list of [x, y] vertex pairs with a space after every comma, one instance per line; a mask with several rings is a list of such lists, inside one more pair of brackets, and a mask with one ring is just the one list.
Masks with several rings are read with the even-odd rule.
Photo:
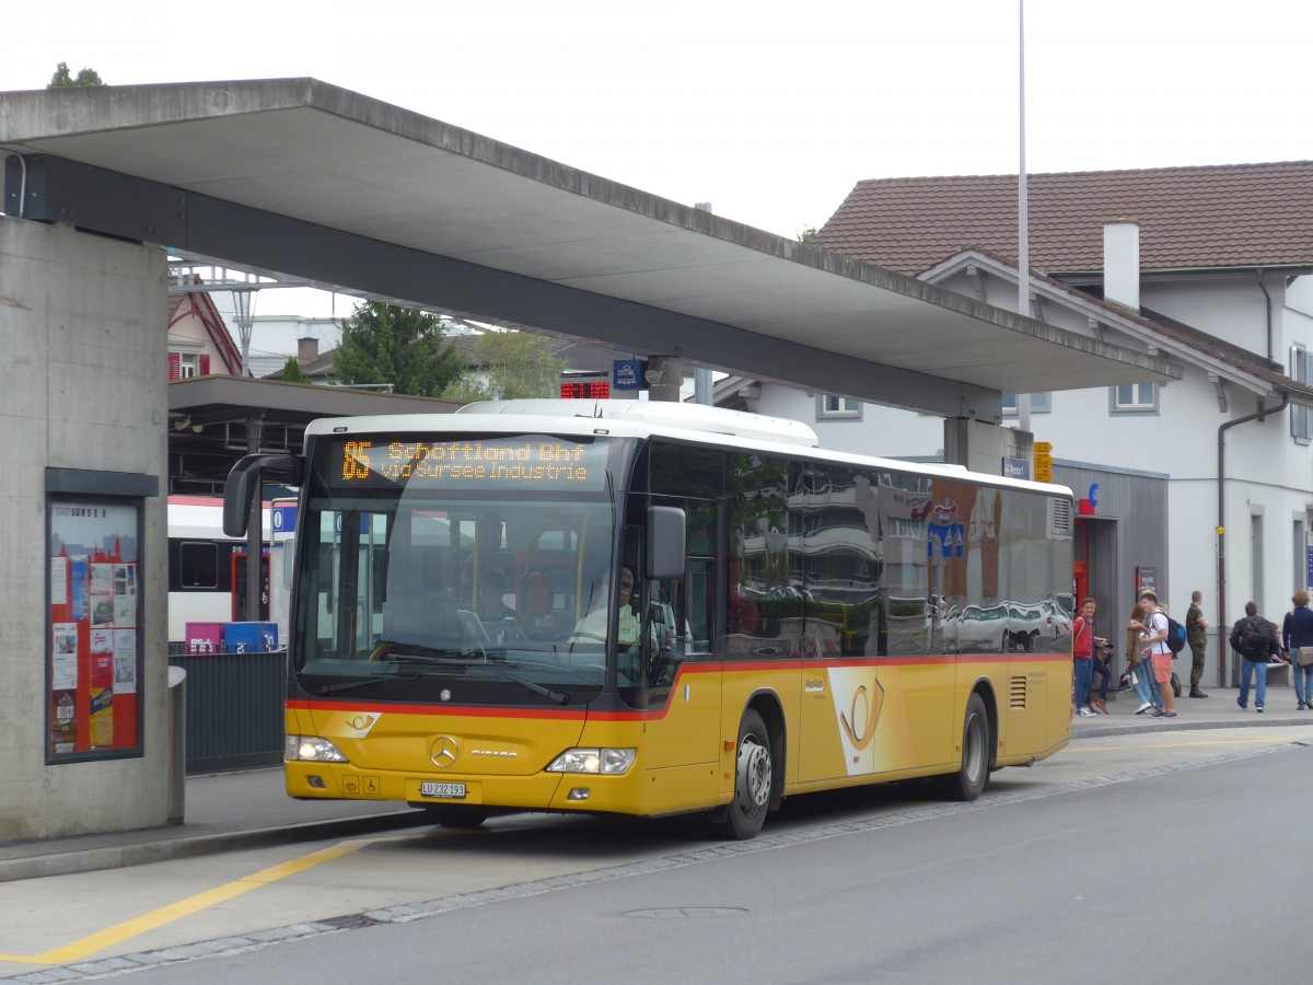
[[140, 755], [140, 500], [50, 496], [46, 529], [46, 760]]

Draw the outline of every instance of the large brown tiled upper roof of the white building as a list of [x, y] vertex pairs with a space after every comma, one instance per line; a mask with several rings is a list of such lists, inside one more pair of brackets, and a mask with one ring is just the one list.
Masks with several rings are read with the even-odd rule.
[[[1016, 264], [1016, 175], [857, 183], [814, 244], [915, 276], [978, 247]], [[1144, 271], [1313, 264], [1313, 162], [1029, 175], [1031, 267], [1103, 269], [1103, 223], [1140, 223]]]

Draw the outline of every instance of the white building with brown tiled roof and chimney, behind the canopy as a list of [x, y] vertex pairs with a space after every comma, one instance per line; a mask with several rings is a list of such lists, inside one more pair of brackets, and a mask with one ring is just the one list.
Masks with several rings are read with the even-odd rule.
[[[1313, 580], [1313, 162], [1027, 185], [1027, 314], [1166, 356], [1182, 380], [1066, 390], [1036, 365], [1002, 423], [1024, 416], [1082, 500], [1075, 594], [1100, 628], [1141, 584], [1178, 617], [1200, 590], [1203, 683], [1229, 680], [1221, 634], [1245, 603], [1275, 617]], [[860, 181], [813, 243], [1016, 310], [1018, 211], [1015, 175]], [[832, 448], [935, 460], [952, 441], [953, 422], [771, 381], [727, 377], [717, 402], [814, 422]], [[1188, 688], [1188, 650], [1176, 668]]]

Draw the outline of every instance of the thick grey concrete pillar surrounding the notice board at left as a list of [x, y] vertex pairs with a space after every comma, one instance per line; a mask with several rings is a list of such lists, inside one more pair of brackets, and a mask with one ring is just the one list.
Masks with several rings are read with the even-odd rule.
[[46, 468], [159, 478], [161, 251], [0, 217], [0, 841], [161, 825], [168, 813], [165, 508], [142, 517], [144, 755], [47, 766]]

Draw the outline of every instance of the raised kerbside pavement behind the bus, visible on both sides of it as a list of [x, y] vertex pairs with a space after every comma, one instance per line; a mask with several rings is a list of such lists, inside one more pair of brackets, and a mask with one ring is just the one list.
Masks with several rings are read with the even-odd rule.
[[[1071, 738], [1081, 741], [1136, 732], [1271, 728], [1313, 725], [1313, 712], [1296, 711], [1291, 687], [1268, 687], [1267, 709], [1236, 704], [1234, 688], [1205, 688], [1208, 699], [1180, 697], [1179, 717], [1136, 714], [1134, 692], [1108, 699], [1108, 714], [1074, 717]], [[150, 862], [257, 848], [272, 844], [349, 838], [423, 823], [423, 813], [404, 804], [369, 801], [297, 801], [286, 796], [280, 768], [188, 776], [181, 825], [137, 831], [0, 842], [0, 883], [72, 872], [139, 865]]]

